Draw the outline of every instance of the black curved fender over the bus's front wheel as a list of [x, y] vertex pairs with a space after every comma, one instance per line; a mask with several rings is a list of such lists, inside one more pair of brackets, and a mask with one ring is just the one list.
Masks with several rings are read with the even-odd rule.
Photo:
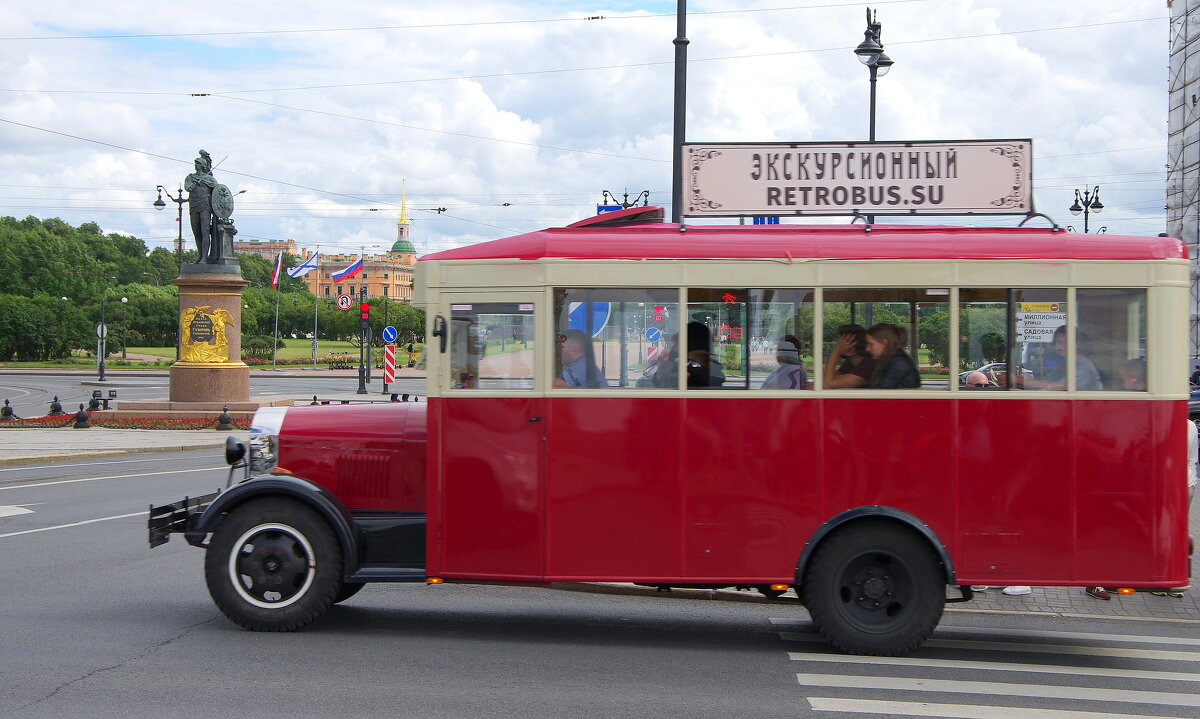
[[269, 496], [298, 499], [316, 510], [334, 528], [337, 541], [342, 545], [344, 575], [350, 576], [358, 571], [361, 543], [349, 510], [328, 490], [301, 477], [274, 474], [252, 477], [233, 485], [217, 495], [196, 521], [196, 526], [185, 532], [184, 537], [190, 544], [204, 546], [204, 538], [216, 529], [227, 514], [250, 499]]

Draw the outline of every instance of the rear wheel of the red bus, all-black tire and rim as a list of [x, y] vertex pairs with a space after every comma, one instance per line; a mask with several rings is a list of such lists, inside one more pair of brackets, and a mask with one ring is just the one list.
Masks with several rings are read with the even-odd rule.
[[856, 522], [829, 535], [802, 591], [817, 629], [848, 654], [907, 654], [929, 639], [946, 606], [934, 549], [892, 522]]

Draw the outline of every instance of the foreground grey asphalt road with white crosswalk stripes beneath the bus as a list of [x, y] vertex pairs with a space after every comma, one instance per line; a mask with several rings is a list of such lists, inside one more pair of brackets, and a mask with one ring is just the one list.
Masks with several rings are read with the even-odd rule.
[[911, 658], [833, 653], [794, 603], [372, 585], [236, 628], [145, 507], [216, 450], [0, 469], [0, 717], [1200, 718], [1200, 623], [949, 611]]

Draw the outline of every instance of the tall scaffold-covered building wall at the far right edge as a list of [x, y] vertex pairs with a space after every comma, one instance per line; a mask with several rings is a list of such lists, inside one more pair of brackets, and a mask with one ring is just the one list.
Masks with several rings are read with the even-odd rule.
[[1192, 356], [1200, 356], [1200, 0], [1168, 0], [1170, 95], [1166, 139], [1166, 233], [1192, 257]]

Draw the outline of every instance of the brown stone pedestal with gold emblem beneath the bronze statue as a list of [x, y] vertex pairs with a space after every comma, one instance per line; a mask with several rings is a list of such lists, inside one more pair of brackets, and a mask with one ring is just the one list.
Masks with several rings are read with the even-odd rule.
[[179, 287], [180, 359], [170, 366], [172, 402], [246, 402], [250, 367], [241, 361], [241, 289], [235, 264], [184, 265]]

